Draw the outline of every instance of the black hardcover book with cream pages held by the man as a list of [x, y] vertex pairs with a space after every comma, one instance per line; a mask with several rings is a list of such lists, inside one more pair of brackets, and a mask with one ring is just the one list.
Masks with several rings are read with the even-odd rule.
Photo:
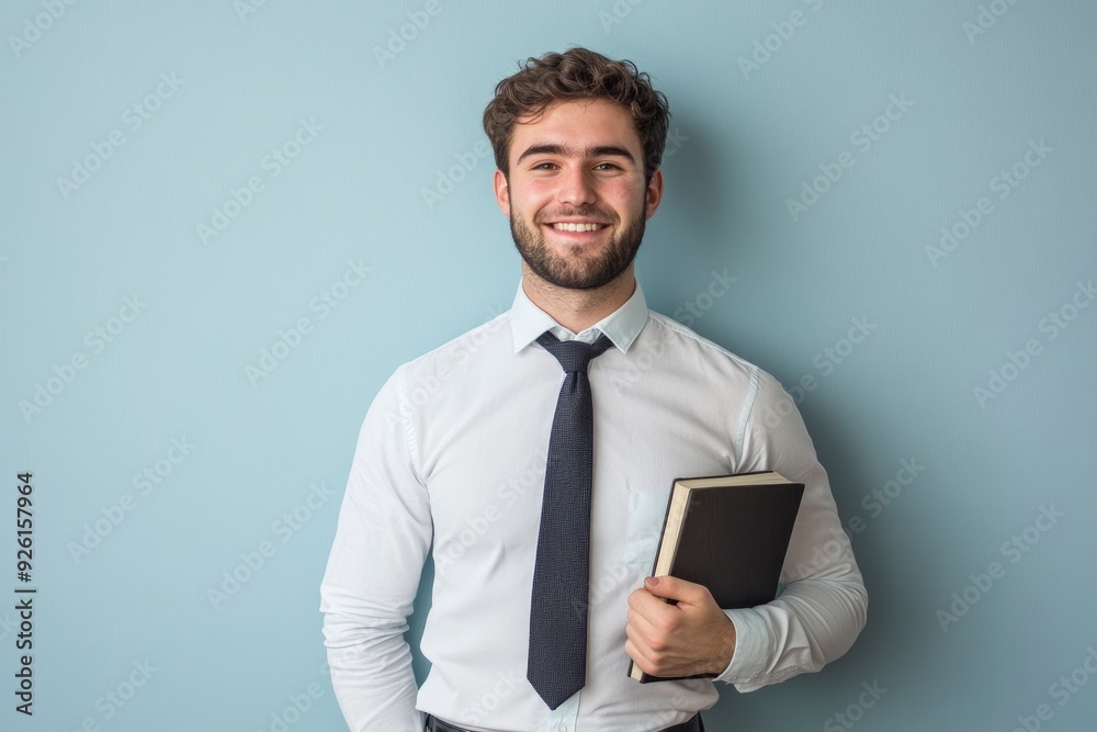
[[[803, 495], [803, 483], [772, 471], [676, 480], [652, 576], [704, 585], [724, 609], [769, 603]], [[671, 680], [645, 674], [632, 661], [629, 675], [641, 684]]]

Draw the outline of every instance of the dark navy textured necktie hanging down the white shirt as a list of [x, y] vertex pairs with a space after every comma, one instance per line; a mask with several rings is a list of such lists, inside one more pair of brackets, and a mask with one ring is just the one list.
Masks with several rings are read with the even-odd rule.
[[548, 438], [525, 676], [548, 708], [556, 709], [586, 684], [595, 453], [587, 364], [610, 347], [610, 340], [601, 336], [595, 344], [559, 341], [545, 333], [538, 342], [556, 357], [565, 378]]

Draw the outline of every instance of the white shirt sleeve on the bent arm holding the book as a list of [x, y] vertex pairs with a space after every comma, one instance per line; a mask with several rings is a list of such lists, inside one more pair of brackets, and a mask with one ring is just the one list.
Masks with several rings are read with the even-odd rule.
[[795, 404], [781, 384], [758, 372], [754, 398], [737, 427], [743, 472], [773, 470], [804, 483], [777, 599], [725, 610], [735, 652], [717, 677], [754, 691], [841, 656], [864, 627], [868, 595], [841, 529], [826, 471]]

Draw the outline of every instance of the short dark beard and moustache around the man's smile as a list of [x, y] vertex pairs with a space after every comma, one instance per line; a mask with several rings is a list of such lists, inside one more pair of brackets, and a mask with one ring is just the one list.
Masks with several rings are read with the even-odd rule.
[[575, 256], [564, 258], [553, 252], [545, 243], [541, 225], [545, 221], [566, 216], [590, 216], [599, 221], [612, 218], [592, 206], [580, 206], [574, 212], [553, 212], [552, 216], [536, 216], [533, 222], [534, 228], [530, 228], [521, 212], [516, 212], [511, 206], [510, 235], [514, 239], [518, 252], [534, 274], [557, 288], [597, 290], [629, 269], [640, 250], [640, 243], [644, 238], [644, 228], [647, 224], [643, 206], [635, 216], [625, 222], [623, 228], [602, 245], [604, 249], [590, 260], [581, 257], [581, 248], [585, 245], [573, 245], [572, 251]]

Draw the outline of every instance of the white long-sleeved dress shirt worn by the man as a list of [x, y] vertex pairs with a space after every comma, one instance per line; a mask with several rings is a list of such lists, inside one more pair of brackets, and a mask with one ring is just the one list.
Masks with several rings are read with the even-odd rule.
[[[595, 406], [586, 686], [550, 710], [525, 679], [548, 433], [564, 380], [545, 330], [615, 348]], [[676, 477], [776, 470], [806, 485], [779, 596], [726, 610], [739, 691], [817, 671], [864, 624], [867, 596], [827, 476], [772, 376], [632, 297], [576, 335], [519, 286], [513, 307], [397, 369], [370, 407], [321, 586], [325, 645], [354, 732], [660, 730], [717, 699], [710, 679], [627, 677], [627, 597], [652, 572]], [[433, 543], [432, 543], [433, 541]], [[416, 687], [403, 633], [428, 551], [432, 605]], [[423, 598], [425, 599], [425, 598]]]

